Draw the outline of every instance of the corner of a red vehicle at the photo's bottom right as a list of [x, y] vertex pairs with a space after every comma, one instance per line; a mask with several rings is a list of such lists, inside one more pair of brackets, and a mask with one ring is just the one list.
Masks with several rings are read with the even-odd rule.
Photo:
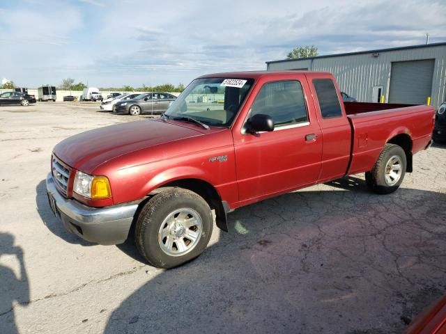
[[403, 334], [445, 334], [446, 333], [446, 296], [429, 305], [420, 315], [410, 322]]

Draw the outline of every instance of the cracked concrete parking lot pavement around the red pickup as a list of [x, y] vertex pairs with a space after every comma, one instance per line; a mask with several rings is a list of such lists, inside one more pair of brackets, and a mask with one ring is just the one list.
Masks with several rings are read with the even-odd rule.
[[164, 271], [50, 212], [54, 145], [142, 119], [97, 106], [0, 107], [0, 333], [401, 333], [446, 293], [446, 146], [415, 155], [387, 196], [354, 175], [238, 209]]

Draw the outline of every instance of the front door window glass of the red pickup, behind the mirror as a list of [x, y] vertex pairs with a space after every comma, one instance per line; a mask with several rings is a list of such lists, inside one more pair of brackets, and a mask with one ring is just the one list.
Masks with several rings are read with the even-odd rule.
[[271, 116], [275, 127], [308, 122], [307, 107], [299, 81], [275, 81], [265, 84], [252, 104], [249, 117]]

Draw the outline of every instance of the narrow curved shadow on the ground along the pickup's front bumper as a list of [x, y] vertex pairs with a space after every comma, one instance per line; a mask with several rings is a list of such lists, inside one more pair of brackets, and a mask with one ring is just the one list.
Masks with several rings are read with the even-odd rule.
[[54, 216], [51, 208], [49, 207], [46, 180], [40, 181], [36, 186], [36, 207], [42, 222], [45, 224], [48, 230], [52, 232], [52, 234], [69, 242], [70, 244], [95, 246], [95, 244], [85, 241], [77, 237], [77, 235], [68, 232], [59, 218]]

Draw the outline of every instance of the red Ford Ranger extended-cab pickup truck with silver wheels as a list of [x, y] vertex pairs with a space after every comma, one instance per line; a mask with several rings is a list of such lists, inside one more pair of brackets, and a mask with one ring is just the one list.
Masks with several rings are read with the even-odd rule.
[[187, 262], [231, 210], [366, 173], [397, 190], [413, 154], [429, 147], [431, 106], [342, 102], [325, 72], [209, 74], [162, 117], [67, 138], [52, 154], [49, 204], [68, 230], [120, 244], [134, 224], [156, 267]]

